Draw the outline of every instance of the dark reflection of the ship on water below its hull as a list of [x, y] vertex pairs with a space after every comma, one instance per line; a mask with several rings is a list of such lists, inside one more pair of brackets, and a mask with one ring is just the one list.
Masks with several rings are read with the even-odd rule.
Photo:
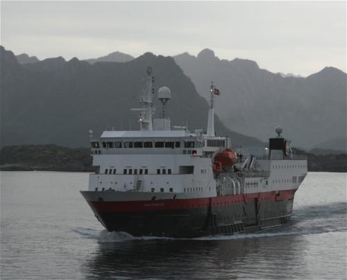
[[[239, 240], [133, 240], [100, 243], [83, 265], [88, 279], [278, 277], [301, 264], [299, 236]], [[282, 256], [285, 255], [285, 258]]]

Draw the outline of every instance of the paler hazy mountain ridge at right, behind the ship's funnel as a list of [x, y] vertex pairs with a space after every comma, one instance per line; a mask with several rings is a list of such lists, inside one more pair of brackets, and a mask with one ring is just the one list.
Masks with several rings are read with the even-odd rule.
[[228, 128], [265, 140], [282, 125], [283, 136], [310, 148], [328, 135], [346, 135], [346, 73], [325, 67], [307, 78], [282, 77], [251, 60], [220, 60], [210, 49], [174, 56], [198, 94], [221, 91], [215, 112]]

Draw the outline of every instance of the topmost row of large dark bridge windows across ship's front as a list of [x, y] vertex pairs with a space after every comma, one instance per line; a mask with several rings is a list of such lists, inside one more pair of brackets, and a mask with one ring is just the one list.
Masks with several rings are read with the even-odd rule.
[[[92, 148], [100, 148], [98, 141], [92, 141]], [[107, 141], [101, 142], [103, 148], [180, 148], [180, 141]], [[185, 148], [201, 148], [202, 143], [185, 141]]]

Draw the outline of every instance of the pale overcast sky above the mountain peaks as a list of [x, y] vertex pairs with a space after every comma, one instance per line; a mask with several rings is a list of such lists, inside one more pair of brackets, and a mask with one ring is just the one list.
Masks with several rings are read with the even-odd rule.
[[67, 60], [209, 48], [307, 76], [325, 66], [346, 71], [346, 2], [1, 1], [1, 44]]

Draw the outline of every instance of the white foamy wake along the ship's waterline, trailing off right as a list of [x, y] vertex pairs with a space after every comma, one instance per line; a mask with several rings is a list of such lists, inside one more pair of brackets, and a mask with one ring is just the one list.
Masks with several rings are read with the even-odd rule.
[[289, 223], [277, 229], [259, 231], [254, 234], [234, 234], [230, 236], [204, 236], [199, 238], [167, 238], [155, 236], [135, 237], [123, 231], [107, 231], [105, 229], [73, 229], [86, 238], [98, 239], [100, 243], [115, 243], [129, 240], [237, 240], [246, 238], [269, 238], [276, 236], [323, 234], [335, 231], [347, 231], [346, 202], [327, 205], [314, 205], [294, 210]]

